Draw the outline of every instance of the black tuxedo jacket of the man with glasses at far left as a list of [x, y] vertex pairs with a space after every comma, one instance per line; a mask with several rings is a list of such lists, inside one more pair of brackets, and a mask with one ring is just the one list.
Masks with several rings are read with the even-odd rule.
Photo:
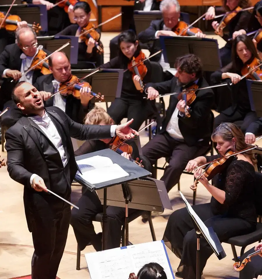
[[[9, 44], [5, 47], [4, 51], [0, 54], [0, 76], [2, 76], [5, 69], [21, 70], [22, 59], [20, 55], [22, 50], [17, 44]], [[33, 83], [38, 76], [42, 76], [39, 70], [33, 72]], [[12, 78], [3, 78], [3, 84], [0, 88], [0, 110], [3, 108], [3, 104], [11, 100], [11, 93], [16, 82], [11, 82]]]

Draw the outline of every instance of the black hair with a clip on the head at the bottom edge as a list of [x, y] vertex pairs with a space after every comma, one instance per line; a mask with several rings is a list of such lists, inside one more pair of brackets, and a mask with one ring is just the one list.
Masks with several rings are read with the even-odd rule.
[[[161, 276], [159, 276], [159, 274]], [[156, 262], [145, 264], [137, 273], [137, 279], [167, 279], [164, 268]]]

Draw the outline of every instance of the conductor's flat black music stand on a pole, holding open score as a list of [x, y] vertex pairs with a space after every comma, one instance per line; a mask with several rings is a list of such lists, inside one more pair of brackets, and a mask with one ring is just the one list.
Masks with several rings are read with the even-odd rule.
[[107, 188], [117, 185], [117, 184], [124, 184], [128, 183], [133, 180], [145, 178], [147, 176], [151, 176], [152, 174], [139, 167], [137, 164], [134, 164], [130, 160], [127, 160], [123, 156], [119, 155], [118, 153], [112, 151], [111, 149], [104, 149], [100, 151], [95, 151], [92, 153], [84, 154], [81, 156], [75, 157], [76, 162], [82, 159], [91, 158], [93, 156], [105, 156], [112, 160], [113, 163], [117, 163], [121, 166], [129, 175], [121, 178], [117, 178], [114, 180], [105, 181], [102, 183], [91, 184], [88, 181], [84, 180], [78, 174], [75, 175], [75, 181], [77, 181], [82, 186], [86, 187], [91, 192], [103, 189], [103, 215], [102, 215], [102, 250], [106, 250], [107, 244]]

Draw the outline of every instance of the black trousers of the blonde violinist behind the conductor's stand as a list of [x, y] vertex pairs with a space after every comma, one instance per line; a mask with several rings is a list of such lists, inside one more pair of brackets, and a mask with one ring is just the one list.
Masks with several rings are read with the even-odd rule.
[[[101, 251], [101, 237], [95, 233], [92, 223], [95, 215], [103, 212], [103, 206], [97, 194], [85, 189], [82, 197], [77, 202], [77, 206], [79, 210], [72, 209], [70, 224], [74, 229], [80, 250], [84, 250], [90, 242], [96, 251]], [[128, 209], [128, 214], [131, 215], [137, 211], [136, 209]], [[120, 247], [121, 228], [125, 222], [125, 208], [108, 206], [107, 215], [109, 217], [107, 219], [107, 249]]]

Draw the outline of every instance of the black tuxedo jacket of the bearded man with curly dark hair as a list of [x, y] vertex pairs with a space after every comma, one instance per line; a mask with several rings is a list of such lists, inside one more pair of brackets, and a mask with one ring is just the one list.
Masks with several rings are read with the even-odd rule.
[[[149, 86], [154, 87], [160, 94], [168, 94], [171, 92], [179, 92], [181, 87], [176, 84], [177, 78], [174, 77], [169, 81], [160, 83], [147, 83], [146, 88]], [[204, 78], [199, 78], [197, 85], [200, 87], [208, 86]], [[203, 139], [203, 144], [210, 140], [211, 136], [211, 107], [214, 102], [214, 93], [212, 89], [203, 89], [196, 91], [196, 99], [190, 105], [192, 112], [191, 117], [181, 117], [178, 114], [178, 126], [181, 134], [184, 137], [186, 144], [189, 146], [197, 144], [200, 139]], [[167, 124], [173, 115], [178, 98], [176, 95], [171, 95], [169, 100], [169, 107], [167, 109], [166, 117], [163, 120], [160, 133], [164, 133]]]

